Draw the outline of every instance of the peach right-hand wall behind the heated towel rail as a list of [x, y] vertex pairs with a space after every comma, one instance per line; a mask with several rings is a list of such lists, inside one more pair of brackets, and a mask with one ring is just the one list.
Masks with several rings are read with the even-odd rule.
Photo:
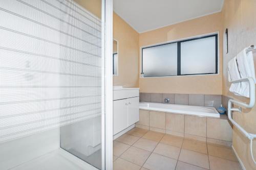
[[[225, 0], [222, 10], [223, 31], [228, 28], [229, 52], [226, 54], [226, 46], [223, 45], [223, 95], [229, 96], [242, 102], [248, 102], [247, 98], [237, 97], [229, 92], [230, 83], [227, 77], [228, 61], [236, 56], [243, 48], [251, 44], [256, 45], [256, 1], [255, 0]], [[224, 34], [224, 32], [223, 32]], [[225, 44], [225, 39], [223, 44]], [[254, 65], [256, 64], [254, 53]], [[256, 106], [252, 109], [243, 109], [241, 113], [233, 114], [242, 127], [250, 133], [256, 133]], [[233, 147], [242, 160], [247, 170], [256, 169], [252, 162], [249, 150], [249, 140], [236, 128], [233, 128]], [[256, 159], [256, 140], [253, 142], [253, 154]]]

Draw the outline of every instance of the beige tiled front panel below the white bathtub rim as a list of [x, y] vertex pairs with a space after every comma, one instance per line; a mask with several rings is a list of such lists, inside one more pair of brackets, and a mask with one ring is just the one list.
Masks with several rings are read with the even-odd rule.
[[140, 110], [136, 127], [228, 146], [232, 142], [232, 128], [226, 115], [209, 118]]

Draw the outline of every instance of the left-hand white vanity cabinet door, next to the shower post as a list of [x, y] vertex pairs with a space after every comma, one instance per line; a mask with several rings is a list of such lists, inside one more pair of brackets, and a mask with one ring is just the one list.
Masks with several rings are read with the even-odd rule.
[[113, 101], [113, 134], [127, 128], [127, 99]]

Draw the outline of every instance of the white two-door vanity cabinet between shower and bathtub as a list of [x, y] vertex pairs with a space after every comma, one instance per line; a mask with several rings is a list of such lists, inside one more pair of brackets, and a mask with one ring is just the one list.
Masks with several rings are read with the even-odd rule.
[[113, 135], [139, 121], [139, 89], [113, 90]]

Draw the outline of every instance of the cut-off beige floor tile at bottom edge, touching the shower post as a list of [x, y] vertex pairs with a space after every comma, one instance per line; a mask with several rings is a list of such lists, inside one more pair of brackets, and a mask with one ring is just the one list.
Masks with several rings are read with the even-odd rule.
[[139, 170], [140, 166], [131, 163], [129, 161], [117, 158], [117, 160], [113, 163], [114, 170]]

